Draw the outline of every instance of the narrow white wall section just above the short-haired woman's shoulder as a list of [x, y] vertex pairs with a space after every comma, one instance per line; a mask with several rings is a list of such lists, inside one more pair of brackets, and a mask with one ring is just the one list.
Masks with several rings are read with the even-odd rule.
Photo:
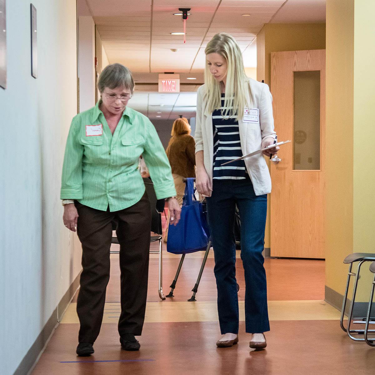
[[80, 16], [79, 34], [79, 70], [80, 112], [95, 105], [95, 23], [91, 16]]

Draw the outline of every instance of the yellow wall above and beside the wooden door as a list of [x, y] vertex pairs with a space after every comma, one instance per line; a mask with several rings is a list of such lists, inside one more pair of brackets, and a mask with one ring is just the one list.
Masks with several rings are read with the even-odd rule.
[[[257, 80], [271, 83], [271, 52], [326, 48], [326, 24], [265, 24], [257, 34]], [[276, 129], [277, 132], [277, 129]], [[266, 159], [269, 165], [269, 159]], [[270, 247], [270, 205], [264, 246]]]

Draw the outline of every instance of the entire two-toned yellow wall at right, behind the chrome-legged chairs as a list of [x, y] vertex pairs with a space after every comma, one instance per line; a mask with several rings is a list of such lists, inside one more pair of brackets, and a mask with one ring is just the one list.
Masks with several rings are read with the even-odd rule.
[[[352, 252], [374, 253], [375, 2], [327, 0], [326, 285], [344, 294]], [[337, 144], [340, 140], [344, 147]], [[369, 144], [369, 146], [367, 146]], [[368, 301], [365, 264], [358, 297]]]

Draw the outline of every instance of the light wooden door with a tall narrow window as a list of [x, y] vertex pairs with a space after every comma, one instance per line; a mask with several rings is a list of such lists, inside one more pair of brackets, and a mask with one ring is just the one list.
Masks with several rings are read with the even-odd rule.
[[325, 258], [326, 51], [271, 54], [278, 164], [271, 163], [271, 255]]

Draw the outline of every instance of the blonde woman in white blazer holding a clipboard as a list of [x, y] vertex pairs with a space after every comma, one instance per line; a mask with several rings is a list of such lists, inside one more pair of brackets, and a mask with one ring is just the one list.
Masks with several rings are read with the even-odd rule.
[[[274, 143], [269, 87], [245, 75], [236, 40], [216, 34], [205, 48], [205, 84], [198, 89], [195, 130], [196, 186], [207, 197], [208, 223], [215, 256], [218, 347], [238, 342], [239, 307], [236, 248], [233, 233], [236, 205], [241, 219], [241, 258], [245, 270], [245, 325], [250, 347], [266, 347], [269, 331], [264, 270], [264, 229], [271, 178], [262, 154], [222, 163]], [[272, 149], [277, 153], [279, 147]], [[265, 151], [270, 156], [270, 151]]]

